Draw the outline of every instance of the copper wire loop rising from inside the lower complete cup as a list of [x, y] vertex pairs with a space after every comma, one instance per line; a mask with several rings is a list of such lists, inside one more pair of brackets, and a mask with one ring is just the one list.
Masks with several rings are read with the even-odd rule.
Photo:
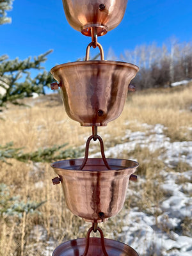
[[108, 164], [108, 161], [106, 160], [106, 156], [105, 156], [105, 153], [104, 153], [104, 144], [103, 144], [103, 141], [102, 141], [102, 138], [100, 138], [99, 135], [92, 135], [88, 138], [88, 140], [86, 141], [86, 147], [85, 147], [85, 152], [84, 152], [84, 159], [83, 159], [83, 163], [81, 164], [81, 166], [79, 167], [79, 170], [83, 170], [85, 164], [86, 164], [86, 161], [88, 159], [88, 154], [89, 154], [89, 146], [90, 146], [90, 141], [95, 138], [96, 140], [98, 139], [99, 142], [100, 142], [100, 153], [101, 153], [101, 156], [102, 156], [102, 161], [104, 162], [105, 166], [108, 168], [108, 170], [111, 170], [111, 168], [109, 167], [109, 164]]

